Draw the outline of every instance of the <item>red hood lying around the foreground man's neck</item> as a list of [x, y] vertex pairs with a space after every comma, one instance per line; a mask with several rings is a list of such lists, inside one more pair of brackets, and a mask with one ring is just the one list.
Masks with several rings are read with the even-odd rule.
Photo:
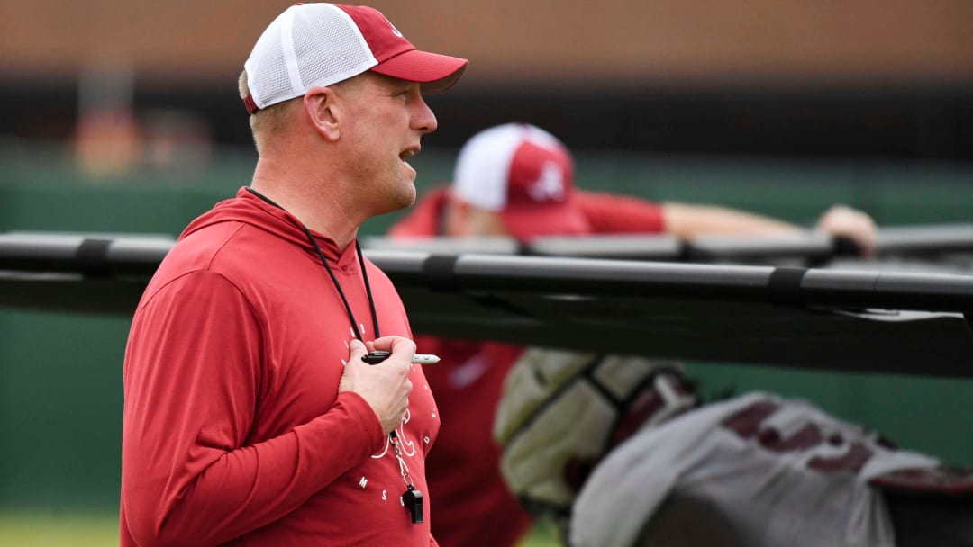
[[[271, 205], [251, 193], [246, 187], [239, 188], [236, 190], [235, 197], [217, 203], [212, 209], [200, 215], [193, 222], [190, 222], [186, 226], [186, 229], [179, 235], [179, 239], [182, 240], [206, 226], [221, 222], [243, 222], [249, 224], [280, 238], [287, 244], [300, 247], [309, 255], [314, 256], [315, 260], [318, 259], [314, 247], [307, 239], [304, 223], [287, 211]], [[310, 233], [317, 240], [321, 252], [330, 262], [340, 267], [356, 263], [354, 245], [349, 245], [342, 256], [338, 245], [331, 238], [314, 230], [310, 230]]]

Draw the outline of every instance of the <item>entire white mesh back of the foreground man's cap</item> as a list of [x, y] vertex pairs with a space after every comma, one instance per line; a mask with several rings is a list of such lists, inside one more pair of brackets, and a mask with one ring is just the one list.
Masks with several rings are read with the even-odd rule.
[[270, 22], [243, 66], [254, 102], [266, 108], [376, 64], [358, 26], [341, 8], [304, 4]]

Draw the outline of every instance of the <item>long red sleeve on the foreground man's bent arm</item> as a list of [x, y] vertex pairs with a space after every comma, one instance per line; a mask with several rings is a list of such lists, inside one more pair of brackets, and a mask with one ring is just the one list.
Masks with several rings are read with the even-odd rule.
[[169, 282], [136, 312], [126, 348], [123, 530], [143, 546], [223, 543], [265, 526], [383, 441], [355, 393], [246, 443], [260, 390], [262, 325], [225, 278]]

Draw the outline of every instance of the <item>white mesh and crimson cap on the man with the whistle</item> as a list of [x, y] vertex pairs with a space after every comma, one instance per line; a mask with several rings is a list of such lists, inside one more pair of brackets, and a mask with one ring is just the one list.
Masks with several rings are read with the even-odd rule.
[[340, 4], [296, 4], [270, 22], [243, 64], [250, 114], [371, 70], [444, 91], [468, 61], [418, 51], [378, 10]]

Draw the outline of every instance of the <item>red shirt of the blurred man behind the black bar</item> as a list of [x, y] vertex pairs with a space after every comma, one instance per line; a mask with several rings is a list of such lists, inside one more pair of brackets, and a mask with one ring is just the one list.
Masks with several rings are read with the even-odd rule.
[[[446, 188], [426, 192], [392, 237], [442, 235]], [[596, 233], [659, 233], [662, 207], [632, 197], [577, 190], [576, 204]], [[497, 343], [415, 338], [416, 351], [443, 359], [425, 368], [443, 417], [436, 447], [426, 459], [430, 494], [436, 499], [432, 530], [443, 547], [515, 545], [530, 516], [507, 489], [493, 418], [507, 372], [523, 347]]]

